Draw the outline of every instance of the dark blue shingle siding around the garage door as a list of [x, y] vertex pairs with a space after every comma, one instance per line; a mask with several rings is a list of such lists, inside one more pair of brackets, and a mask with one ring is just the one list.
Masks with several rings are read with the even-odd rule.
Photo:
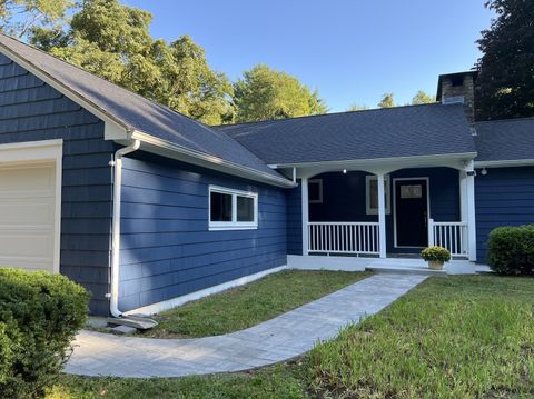
[[0, 120], [0, 143], [63, 139], [60, 270], [107, 315], [113, 146], [103, 123], [3, 54]]

